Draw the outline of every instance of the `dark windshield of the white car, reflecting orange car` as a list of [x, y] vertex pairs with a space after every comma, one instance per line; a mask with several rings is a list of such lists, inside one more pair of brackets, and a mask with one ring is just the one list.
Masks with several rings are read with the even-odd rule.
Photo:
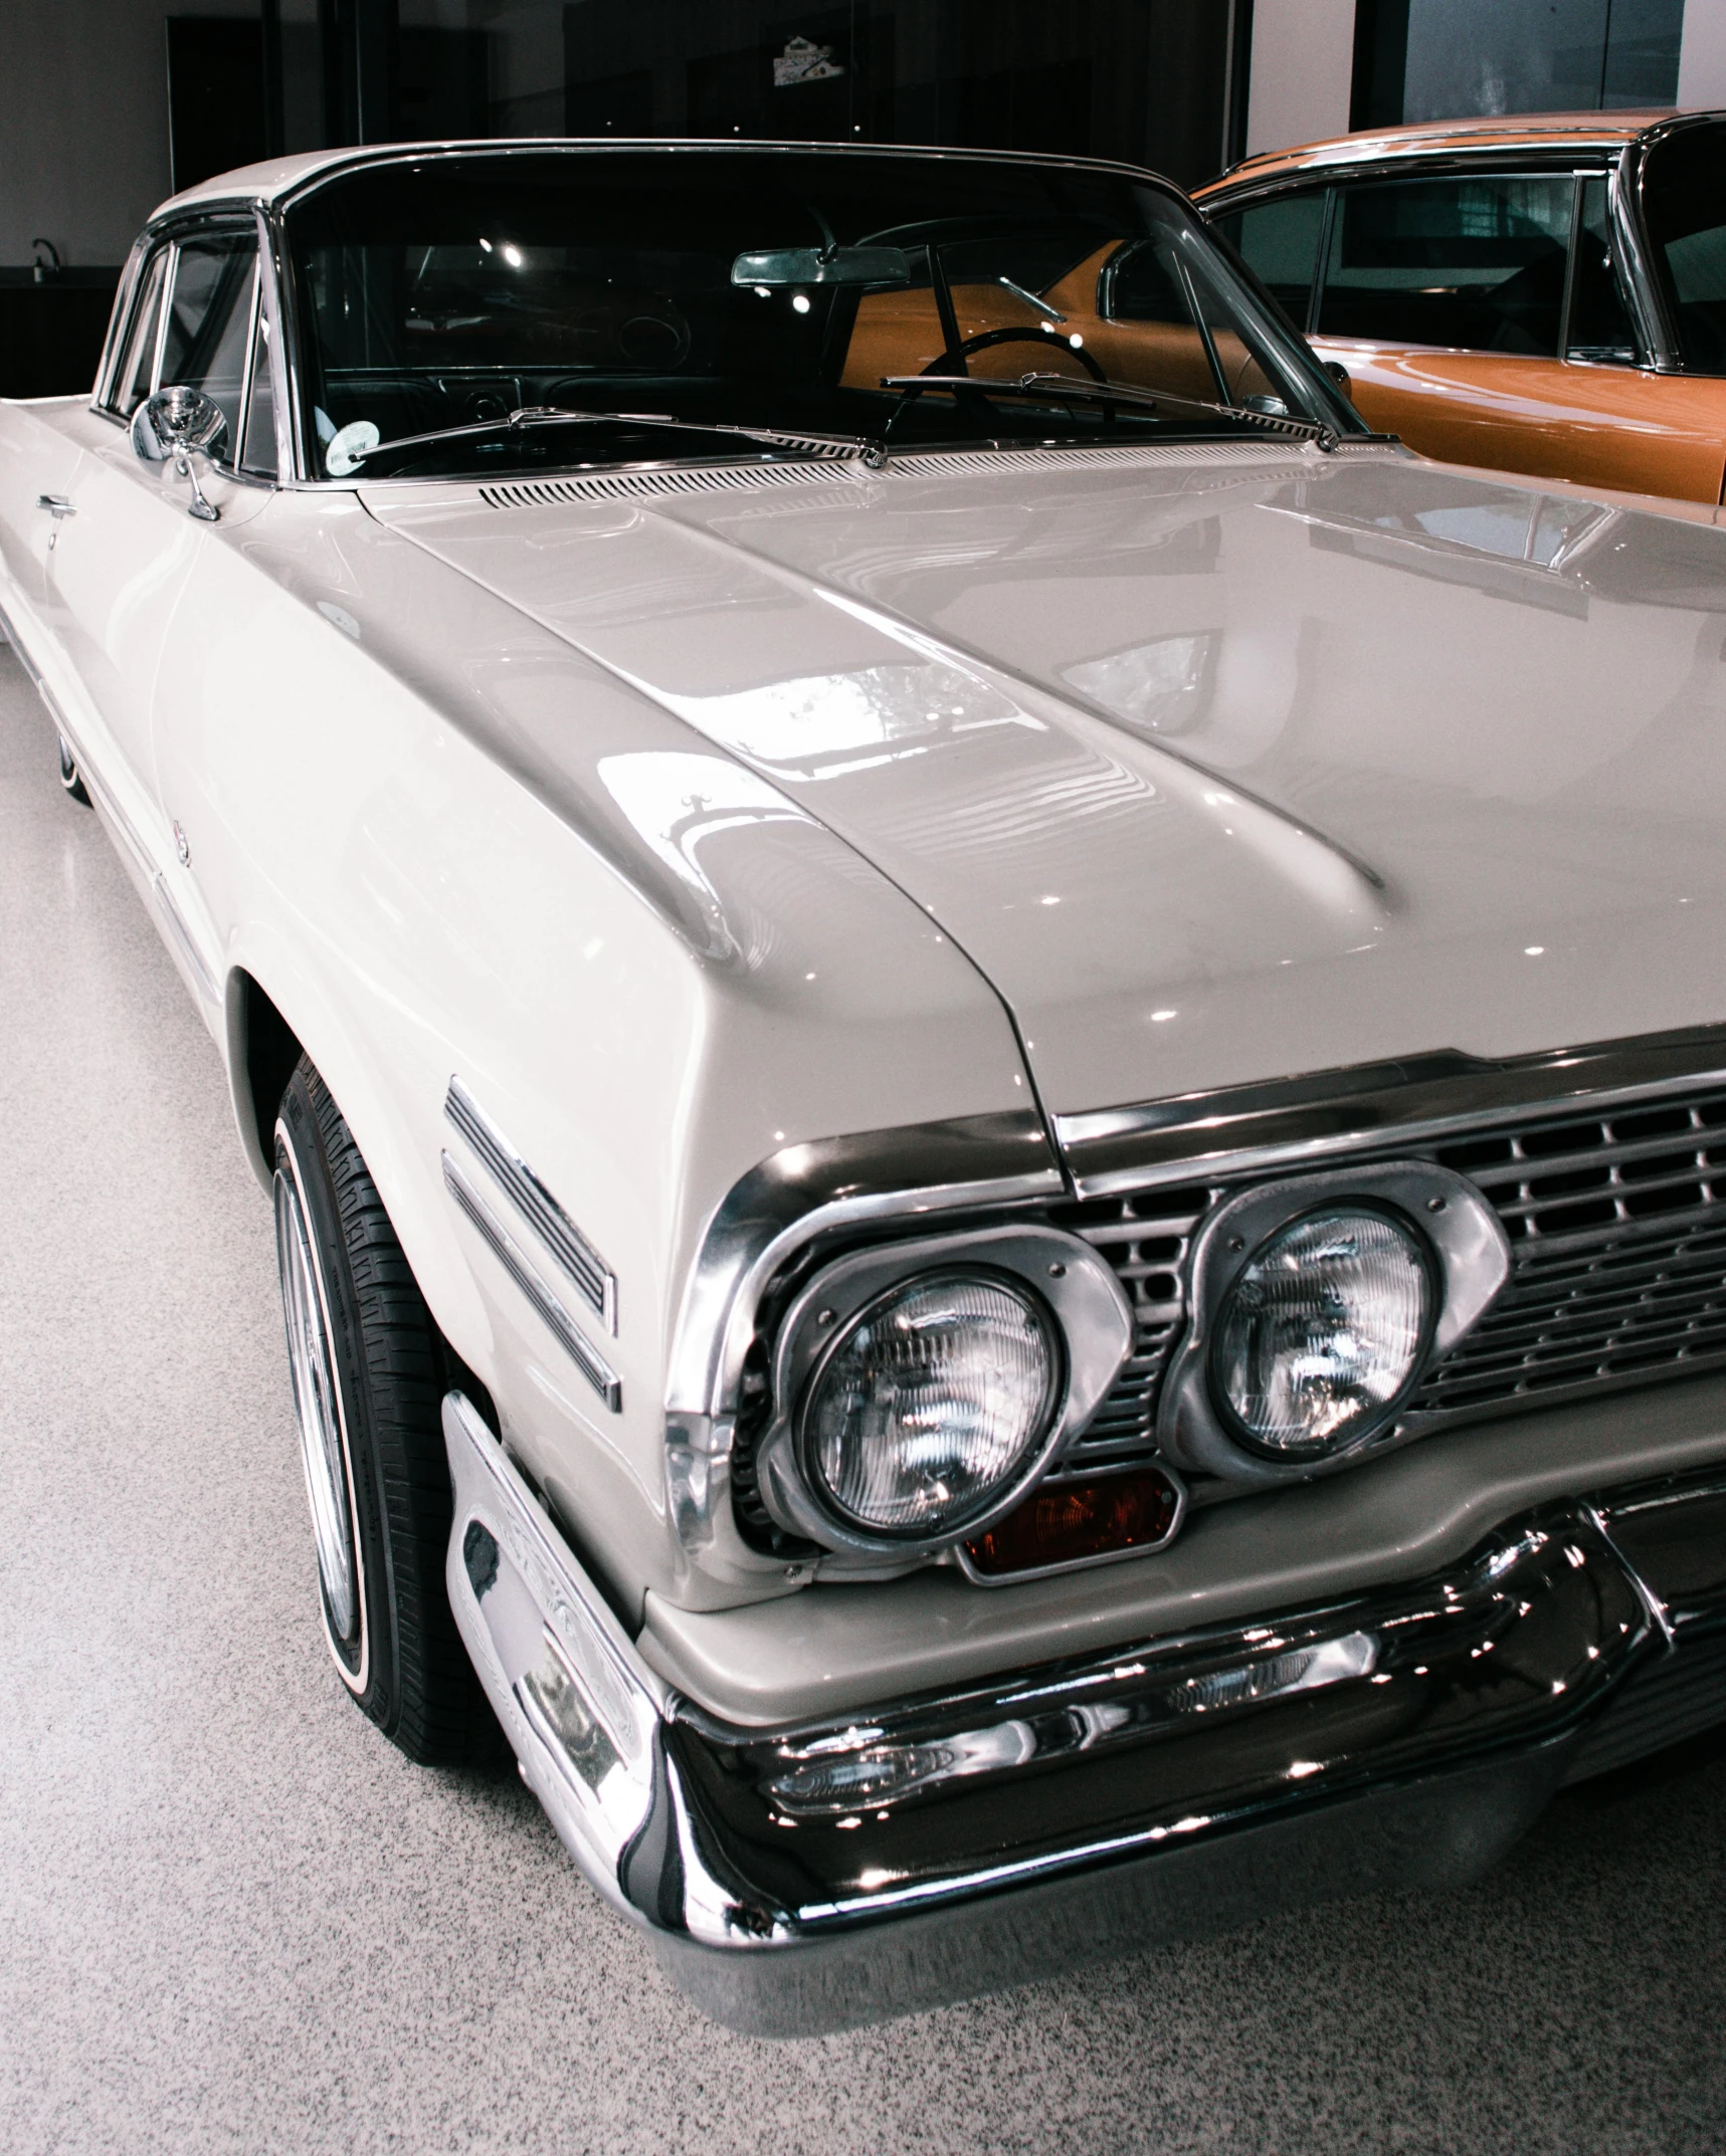
[[[1187, 203], [1131, 175], [872, 151], [475, 151], [326, 183], [289, 211], [287, 250], [313, 476], [811, 453], [675, 420], [893, 448], [1264, 440], [1277, 416], [1359, 431]], [[915, 375], [1055, 382], [906, 390]], [[1061, 399], [1061, 379], [1169, 403]], [[507, 425], [529, 407], [615, 416]], [[403, 440], [455, 427], [481, 431]]]

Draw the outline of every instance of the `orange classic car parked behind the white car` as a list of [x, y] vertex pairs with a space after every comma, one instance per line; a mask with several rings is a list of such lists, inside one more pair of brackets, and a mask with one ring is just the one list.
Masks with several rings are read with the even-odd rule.
[[1249, 157], [1195, 201], [1372, 427], [1722, 500], [1726, 114], [1392, 127]]

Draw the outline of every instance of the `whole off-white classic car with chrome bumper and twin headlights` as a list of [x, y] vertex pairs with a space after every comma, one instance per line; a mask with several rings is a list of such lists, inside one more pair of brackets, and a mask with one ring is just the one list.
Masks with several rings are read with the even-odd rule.
[[710, 2012], [1469, 1878], [1726, 1716], [1709, 511], [1370, 436], [1143, 172], [539, 142], [168, 203], [0, 550], [341, 1682]]

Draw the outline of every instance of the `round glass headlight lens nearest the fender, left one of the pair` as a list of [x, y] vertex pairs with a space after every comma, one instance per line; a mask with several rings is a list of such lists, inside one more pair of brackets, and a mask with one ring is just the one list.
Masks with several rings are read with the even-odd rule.
[[805, 1473], [872, 1535], [964, 1526], [1036, 1453], [1061, 1391], [1055, 1324], [999, 1274], [926, 1272], [878, 1296], [803, 1401]]

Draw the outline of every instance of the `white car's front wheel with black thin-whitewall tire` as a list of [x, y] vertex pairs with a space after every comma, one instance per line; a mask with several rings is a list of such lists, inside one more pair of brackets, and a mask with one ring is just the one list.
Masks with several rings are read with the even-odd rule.
[[276, 1119], [276, 1257], [334, 1664], [410, 1759], [488, 1757], [496, 1723], [444, 1587], [449, 1352], [304, 1056]]

